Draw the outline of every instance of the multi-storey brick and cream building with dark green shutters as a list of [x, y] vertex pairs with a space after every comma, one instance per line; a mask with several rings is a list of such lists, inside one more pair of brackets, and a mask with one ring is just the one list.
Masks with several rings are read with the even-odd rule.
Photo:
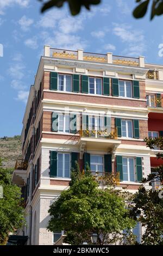
[[[163, 135], [163, 66], [144, 57], [45, 46], [31, 86], [21, 134], [22, 159], [12, 182], [22, 187], [28, 245], [52, 245], [49, 206], [67, 189], [71, 167], [120, 179], [134, 193], [157, 166], [143, 141]], [[141, 227], [139, 241], [141, 241]]]

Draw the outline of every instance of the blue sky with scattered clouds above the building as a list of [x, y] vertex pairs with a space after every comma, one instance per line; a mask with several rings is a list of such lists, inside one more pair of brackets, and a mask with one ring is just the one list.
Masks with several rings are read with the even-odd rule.
[[40, 13], [37, 0], [0, 0], [0, 137], [20, 135], [30, 85], [34, 83], [43, 45], [124, 56], [145, 56], [162, 64], [162, 19], [135, 20], [135, 0], [102, 0], [72, 17], [67, 5]]

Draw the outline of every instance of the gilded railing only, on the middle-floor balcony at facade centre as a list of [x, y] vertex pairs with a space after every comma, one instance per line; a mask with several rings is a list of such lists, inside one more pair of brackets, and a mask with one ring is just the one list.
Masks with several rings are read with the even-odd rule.
[[117, 139], [117, 128], [112, 131], [105, 130], [80, 130], [80, 137], [88, 137], [88, 138], [104, 138], [104, 139]]

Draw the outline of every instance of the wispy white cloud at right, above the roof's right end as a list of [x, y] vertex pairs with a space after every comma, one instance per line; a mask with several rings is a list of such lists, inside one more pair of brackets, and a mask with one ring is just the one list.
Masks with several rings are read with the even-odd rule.
[[136, 30], [130, 25], [113, 23], [113, 33], [126, 44], [122, 54], [140, 56], [146, 50], [145, 36], [141, 30]]

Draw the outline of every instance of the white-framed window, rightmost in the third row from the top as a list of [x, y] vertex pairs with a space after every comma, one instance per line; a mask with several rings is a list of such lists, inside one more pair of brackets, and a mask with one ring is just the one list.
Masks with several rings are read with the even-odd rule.
[[133, 157], [122, 157], [123, 180], [135, 181], [135, 161]]

